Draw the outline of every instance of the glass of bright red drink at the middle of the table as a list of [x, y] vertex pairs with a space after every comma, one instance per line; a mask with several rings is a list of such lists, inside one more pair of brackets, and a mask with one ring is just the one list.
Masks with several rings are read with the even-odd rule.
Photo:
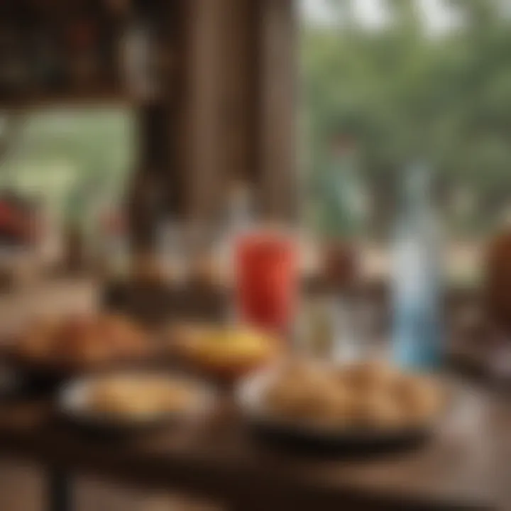
[[287, 333], [297, 299], [297, 248], [280, 233], [252, 233], [236, 243], [236, 294], [241, 318]]

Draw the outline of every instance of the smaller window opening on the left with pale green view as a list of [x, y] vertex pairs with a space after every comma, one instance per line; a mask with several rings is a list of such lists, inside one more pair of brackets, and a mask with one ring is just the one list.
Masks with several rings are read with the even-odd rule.
[[0, 160], [0, 190], [35, 200], [54, 226], [71, 222], [94, 233], [123, 201], [136, 150], [133, 113], [52, 108], [20, 115]]

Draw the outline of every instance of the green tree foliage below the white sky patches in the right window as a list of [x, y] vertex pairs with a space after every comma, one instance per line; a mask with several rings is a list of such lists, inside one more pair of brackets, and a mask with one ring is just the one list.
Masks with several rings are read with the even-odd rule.
[[[511, 191], [509, 2], [445, 0], [462, 23], [432, 35], [414, 0], [386, 1], [391, 22], [382, 30], [356, 21], [354, 1], [331, 0], [331, 23], [302, 30], [310, 189], [329, 172], [331, 139], [346, 133], [359, 149], [370, 230], [390, 223], [413, 158], [436, 171], [436, 198], [454, 229], [488, 229]], [[476, 202], [462, 219], [451, 211], [460, 190]]]

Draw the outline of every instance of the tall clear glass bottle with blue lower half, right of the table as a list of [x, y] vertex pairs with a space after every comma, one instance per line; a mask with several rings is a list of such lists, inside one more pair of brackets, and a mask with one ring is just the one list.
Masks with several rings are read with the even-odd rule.
[[392, 268], [392, 350], [409, 370], [441, 365], [441, 258], [439, 229], [426, 165], [408, 169], [395, 233]]

